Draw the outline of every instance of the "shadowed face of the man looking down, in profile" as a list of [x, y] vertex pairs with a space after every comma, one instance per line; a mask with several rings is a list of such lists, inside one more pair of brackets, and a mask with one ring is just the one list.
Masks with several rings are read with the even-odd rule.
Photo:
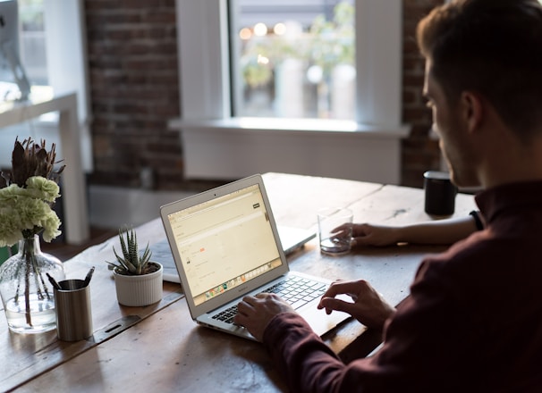
[[479, 185], [473, 168], [473, 155], [466, 119], [462, 116], [461, 99], [451, 102], [431, 72], [431, 63], [426, 63], [424, 96], [433, 111], [433, 129], [440, 137], [440, 149], [445, 157], [453, 183], [459, 187]]

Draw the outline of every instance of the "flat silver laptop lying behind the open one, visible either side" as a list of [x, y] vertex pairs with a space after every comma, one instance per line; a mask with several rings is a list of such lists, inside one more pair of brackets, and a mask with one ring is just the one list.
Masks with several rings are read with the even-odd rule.
[[[313, 230], [305, 230], [302, 228], [288, 227], [279, 225], [278, 236], [281, 239], [281, 244], [284, 250], [284, 255], [290, 255], [297, 249], [303, 247], [312, 238], [316, 237], [316, 232]], [[177, 266], [174, 262], [174, 255], [171, 253], [169, 242], [165, 238], [157, 243], [149, 246], [152, 253], [152, 260], [161, 263], [164, 272], [162, 274], [163, 279], [169, 282], [178, 282], [179, 272], [177, 272]], [[143, 250], [141, 250], [142, 252]]]

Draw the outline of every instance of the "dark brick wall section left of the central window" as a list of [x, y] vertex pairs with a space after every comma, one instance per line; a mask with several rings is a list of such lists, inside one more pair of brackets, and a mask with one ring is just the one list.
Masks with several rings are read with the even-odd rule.
[[175, 0], [86, 0], [93, 184], [157, 188], [182, 179]]

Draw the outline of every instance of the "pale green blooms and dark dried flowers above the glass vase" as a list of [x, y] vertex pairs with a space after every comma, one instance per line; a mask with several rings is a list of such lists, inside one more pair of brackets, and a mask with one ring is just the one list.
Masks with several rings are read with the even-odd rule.
[[15, 140], [12, 171], [0, 173], [0, 247], [41, 231], [47, 242], [61, 234], [51, 206], [60, 196], [57, 182], [65, 165], [54, 171], [55, 158], [55, 144], [47, 152], [45, 140], [41, 145], [32, 138]]

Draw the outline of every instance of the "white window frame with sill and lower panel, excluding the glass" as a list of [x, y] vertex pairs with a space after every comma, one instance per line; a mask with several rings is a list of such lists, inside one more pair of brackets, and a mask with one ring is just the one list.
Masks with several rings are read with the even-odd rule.
[[[295, 3], [301, 1], [315, 3]], [[410, 130], [401, 124], [402, 2], [352, 0], [355, 101], [351, 120], [279, 118], [271, 112], [267, 112], [270, 117], [244, 117], [240, 90], [231, 78], [230, 59], [237, 50], [230, 46], [228, 31], [234, 23], [228, 8], [232, 4], [176, 0], [181, 118], [169, 125], [182, 131], [184, 177], [234, 180], [256, 172], [283, 171], [399, 184], [401, 138]]]

